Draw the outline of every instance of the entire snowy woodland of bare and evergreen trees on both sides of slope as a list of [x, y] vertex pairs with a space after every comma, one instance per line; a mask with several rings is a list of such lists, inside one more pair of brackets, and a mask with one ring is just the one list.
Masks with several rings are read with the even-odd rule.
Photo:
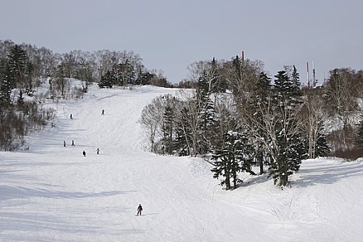
[[[253, 174], [253, 165], [283, 186], [305, 158], [362, 155], [362, 70], [335, 68], [322, 86], [310, 88], [301, 85], [294, 65], [269, 77], [263, 62], [239, 56], [196, 61], [188, 69], [185, 80], [171, 84], [132, 51], [59, 54], [0, 41], [0, 149], [19, 149], [24, 136], [54, 118], [37, 99], [41, 84], [48, 84], [51, 102], [79, 98], [92, 84], [151, 84], [180, 88], [142, 111], [151, 151], [201, 156], [227, 189], [240, 182], [239, 172]], [[82, 88], [73, 88], [70, 78]]]

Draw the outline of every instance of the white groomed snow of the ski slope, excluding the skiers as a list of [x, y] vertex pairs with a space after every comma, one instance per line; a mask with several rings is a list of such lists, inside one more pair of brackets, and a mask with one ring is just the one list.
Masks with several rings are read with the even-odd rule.
[[243, 175], [225, 191], [204, 160], [149, 153], [142, 108], [175, 92], [92, 86], [52, 104], [55, 127], [0, 152], [0, 241], [363, 241], [360, 161], [304, 160], [291, 188]]

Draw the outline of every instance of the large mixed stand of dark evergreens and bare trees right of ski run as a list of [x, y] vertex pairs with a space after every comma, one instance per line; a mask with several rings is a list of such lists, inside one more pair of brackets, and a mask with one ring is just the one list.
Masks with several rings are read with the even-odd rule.
[[[285, 66], [272, 83], [261, 62], [238, 56], [189, 69], [183, 84], [192, 89], [156, 97], [140, 123], [151, 151], [206, 158], [226, 189], [238, 186], [241, 171], [254, 174], [253, 165], [286, 186], [301, 160], [358, 144], [353, 118], [360, 112], [362, 71], [337, 68], [323, 86], [307, 89], [295, 66]], [[337, 142], [331, 133], [342, 130], [329, 130], [331, 120], [351, 129], [352, 138]]]

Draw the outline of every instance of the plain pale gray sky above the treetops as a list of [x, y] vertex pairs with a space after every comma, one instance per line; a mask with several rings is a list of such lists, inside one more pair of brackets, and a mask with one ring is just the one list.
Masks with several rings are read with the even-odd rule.
[[[169, 82], [187, 65], [245, 53], [276, 75], [315, 61], [322, 81], [333, 68], [363, 68], [362, 0], [0, 0], [0, 39], [71, 50], [133, 50]], [[310, 71], [312, 77], [312, 71]]]

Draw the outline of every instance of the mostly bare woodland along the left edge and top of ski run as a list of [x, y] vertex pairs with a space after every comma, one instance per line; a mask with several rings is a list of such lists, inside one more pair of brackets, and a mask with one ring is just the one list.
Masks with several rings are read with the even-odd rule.
[[[71, 78], [80, 80], [82, 88], [72, 86]], [[148, 70], [132, 51], [59, 54], [45, 47], [0, 40], [0, 150], [24, 148], [24, 136], [53, 120], [54, 111], [44, 109], [42, 100], [77, 99], [93, 83], [100, 87], [172, 86], [162, 71]], [[44, 97], [35, 93], [41, 84], [49, 86]]]

